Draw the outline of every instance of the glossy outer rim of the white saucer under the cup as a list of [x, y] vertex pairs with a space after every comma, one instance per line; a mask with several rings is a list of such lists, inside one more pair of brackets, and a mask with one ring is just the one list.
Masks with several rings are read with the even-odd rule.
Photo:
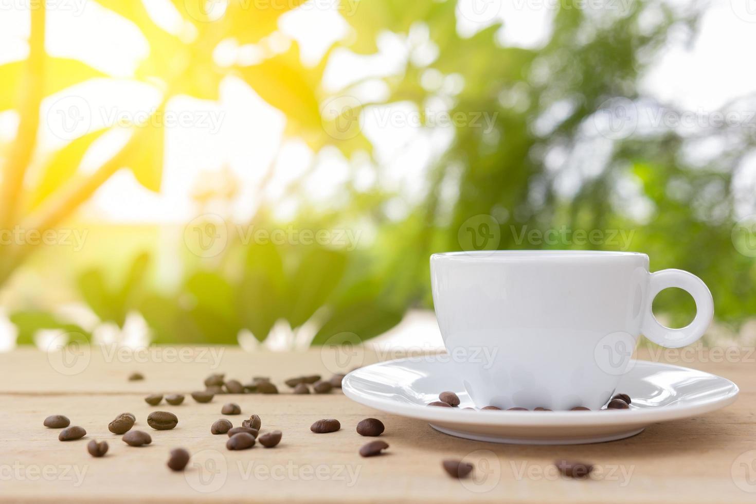
[[[507, 410], [460, 410], [457, 408], [433, 408], [420, 404], [402, 404], [395, 400], [375, 397], [364, 391], [355, 388], [352, 383], [355, 377], [370, 368], [382, 366], [395, 366], [397, 364], [417, 364], [417, 360], [412, 357], [386, 360], [379, 363], [373, 363], [353, 370], [342, 380], [342, 391], [350, 399], [367, 407], [381, 410], [386, 413], [392, 413], [401, 416], [407, 416], [414, 419], [426, 420], [427, 422], [455, 422], [460, 425], [512, 425], [512, 426], [565, 426], [565, 425], [621, 425], [627, 423], [650, 423], [666, 422], [669, 420], [683, 419], [690, 416], [710, 413], [711, 411], [720, 410], [735, 402], [740, 389], [731, 380], [723, 376], [714, 375], [692, 369], [685, 366], [677, 366], [668, 363], [653, 362], [651, 360], [634, 359], [634, 369], [643, 369], [647, 367], [680, 369], [684, 371], [695, 371], [702, 373], [718, 380], [723, 380], [723, 385], [729, 384], [727, 391], [718, 397], [701, 400], [699, 404], [685, 404], [679, 406], [663, 406], [652, 409], [631, 409], [631, 410], [590, 410], [590, 411], [507, 411]], [[432, 366], [443, 365], [444, 363], [430, 363]]]

